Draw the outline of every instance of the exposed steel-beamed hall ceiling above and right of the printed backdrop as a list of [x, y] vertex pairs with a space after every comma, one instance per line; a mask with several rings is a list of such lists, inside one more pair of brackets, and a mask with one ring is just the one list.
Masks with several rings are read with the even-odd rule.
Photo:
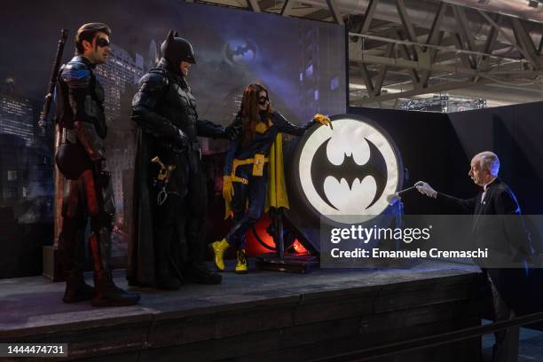
[[437, 94], [488, 106], [543, 99], [543, 0], [195, 2], [344, 25], [351, 106]]

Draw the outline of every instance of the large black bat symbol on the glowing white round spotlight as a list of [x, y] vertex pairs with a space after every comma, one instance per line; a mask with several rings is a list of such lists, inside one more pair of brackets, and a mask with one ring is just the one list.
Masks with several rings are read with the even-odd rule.
[[319, 146], [311, 161], [311, 181], [315, 190], [317, 190], [317, 193], [319, 193], [319, 196], [323, 201], [330, 207], [339, 211], [339, 209], [334, 207], [332, 202], [327, 198], [327, 194], [324, 190], [325, 179], [328, 176], [331, 176], [341, 182], [342, 178], [344, 178], [347, 181], [349, 188], [352, 188], [356, 178], [361, 182], [364, 177], [373, 176], [375, 184], [377, 185], [377, 190], [375, 192], [374, 200], [366, 209], [370, 208], [377, 200], [379, 200], [387, 185], [387, 162], [382, 156], [382, 153], [371, 141], [364, 138], [370, 150], [370, 157], [366, 164], [362, 166], [358, 165], [358, 163], [354, 161], [352, 154], [350, 154], [350, 156], [345, 157], [345, 160], [343, 160], [341, 165], [334, 165], [328, 160], [327, 156], [327, 145], [328, 142], [330, 142], [330, 139], [331, 138], [328, 138], [326, 142]]

